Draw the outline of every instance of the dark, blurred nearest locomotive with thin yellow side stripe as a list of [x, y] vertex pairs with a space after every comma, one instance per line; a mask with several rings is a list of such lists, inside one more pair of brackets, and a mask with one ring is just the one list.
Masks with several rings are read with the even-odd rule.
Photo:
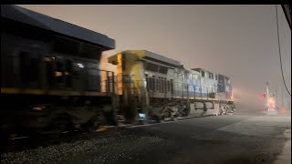
[[113, 39], [16, 5], [1, 23], [2, 132], [115, 124], [114, 75], [99, 66]]

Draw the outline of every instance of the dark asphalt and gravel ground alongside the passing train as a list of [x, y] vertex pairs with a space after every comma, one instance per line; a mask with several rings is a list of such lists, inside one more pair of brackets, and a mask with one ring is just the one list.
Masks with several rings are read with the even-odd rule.
[[1, 154], [1, 163], [273, 163], [290, 116], [191, 118]]

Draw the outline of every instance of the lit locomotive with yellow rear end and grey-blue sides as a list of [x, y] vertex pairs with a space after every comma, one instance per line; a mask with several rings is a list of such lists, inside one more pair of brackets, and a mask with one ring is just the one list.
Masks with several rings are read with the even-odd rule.
[[202, 68], [188, 69], [147, 50], [122, 51], [108, 61], [117, 65], [120, 108], [128, 118], [142, 113], [163, 121], [194, 113], [202, 116], [207, 111], [216, 115], [235, 111], [229, 77]]

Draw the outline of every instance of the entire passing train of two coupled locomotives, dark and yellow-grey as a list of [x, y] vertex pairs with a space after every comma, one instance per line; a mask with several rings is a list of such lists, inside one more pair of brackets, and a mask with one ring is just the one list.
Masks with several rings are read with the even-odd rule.
[[235, 111], [230, 78], [147, 50], [108, 58], [115, 40], [16, 5], [1, 5], [1, 134], [95, 131]]

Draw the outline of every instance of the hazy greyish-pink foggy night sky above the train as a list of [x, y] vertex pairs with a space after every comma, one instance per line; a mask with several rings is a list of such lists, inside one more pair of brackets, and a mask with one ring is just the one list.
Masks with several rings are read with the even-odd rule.
[[[275, 5], [21, 5], [110, 36], [116, 50], [147, 49], [231, 77], [237, 109], [260, 112], [266, 81], [279, 108], [291, 108], [280, 71]], [[278, 5], [279, 35], [291, 91], [291, 30]], [[283, 97], [283, 99], [282, 99]]]

